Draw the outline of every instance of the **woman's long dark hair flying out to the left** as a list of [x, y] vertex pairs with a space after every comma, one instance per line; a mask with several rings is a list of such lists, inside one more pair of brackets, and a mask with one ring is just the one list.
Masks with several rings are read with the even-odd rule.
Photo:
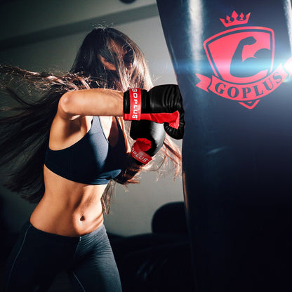
[[[119, 48], [126, 51], [124, 57]], [[99, 56], [117, 70], [106, 69]], [[43, 168], [49, 131], [60, 97], [65, 92], [86, 88], [149, 90], [152, 87], [140, 48], [128, 36], [110, 27], [95, 28], [86, 36], [67, 74], [29, 72], [0, 65], [0, 78], [0, 165], [6, 167], [5, 185], [32, 203], [39, 202], [44, 195]], [[173, 162], [174, 173], [178, 175], [180, 150], [168, 137], [161, 154], [159, 166], [168, 159]], [[115, 181], [137, 183], [136, 173], [141, 169], [128, 154], [127, 166]], [[110, 183], [102, 195], [102, 207], [106, 212], [110, 211], [112, 187], [113, 183]]]

